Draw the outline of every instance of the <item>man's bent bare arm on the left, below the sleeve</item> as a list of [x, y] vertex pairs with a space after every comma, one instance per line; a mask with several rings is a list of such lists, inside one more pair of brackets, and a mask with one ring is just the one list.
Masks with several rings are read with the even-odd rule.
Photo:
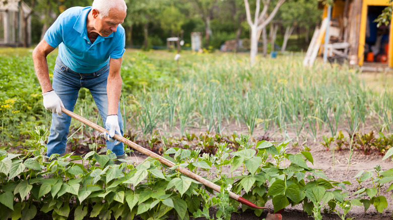
[[49, 69], [46, 56], [55, 48], [51, 47], [45, 40], [42, 40], [33, 51], [33, 62], [35, 74], [41, 85], [42, 93], [52, 90], [49, 78]]

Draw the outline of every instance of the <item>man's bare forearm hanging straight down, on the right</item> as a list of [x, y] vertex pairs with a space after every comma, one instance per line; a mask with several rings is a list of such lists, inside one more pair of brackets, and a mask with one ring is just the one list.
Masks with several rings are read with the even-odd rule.
[[120, 76], [121, 57], [118, 59], [110, 58], [108, 83], [106, 92], [108, 93], [108, 116], [117, 115], [120, 93], [121, 93], [121, 76]]

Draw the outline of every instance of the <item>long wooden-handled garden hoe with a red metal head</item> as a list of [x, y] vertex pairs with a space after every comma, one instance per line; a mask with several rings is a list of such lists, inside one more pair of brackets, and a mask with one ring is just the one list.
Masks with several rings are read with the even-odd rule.
[[[101, 133], [108, 132], [107, 130], [105, 130], [101, 126], [99, 126], [99, 125], [97, 125], [97, 124], [95, 124], [93, 122], [90, 122], [89, 120], [87, 120], [87, 119], [85, 119], [85, 118], [83, 118], [83, 117], [81, 117], [81, 116], [79, 116], [79, 115], [77, 115], [77, 114], [75, 114], [75, 113], [65, 109], [64, 107], [61, 107], [61, 111], [64, 114], [66, 114], [68, 116], [71, 116], [72, 118], [74, 118], [74, 119], [76, 119], [76, 120], [78, 120], [78, 121], [80, 121], [80, 122], [82, 122], [82, 123], [92, 127], [93, 129], [95, 129], [95, 130], [97, 130], [97, 131], [99, 131]], [[126, 144], [126, 145], [128, 145], [128, 146], [130, 146], [132, 148], [134, 148], [135, 150], [137, 150], [137, 151], [139, 151], [139, 152], [141, 152], [143, 154], [146, 154], [146, 155], [148, 155], [148, 156], [150, 156], [152, 158], [156, 158], [158, 161], [160, 161], [161, 163], [163, 163], [163, 164], [165, 164], [165, 165], [167, 165], [169, 167], [173, 167], [175, 165], [172, 161], [170, 161], [168, 159], [165, 159], [164, 157], [162, 157], [162, 156], [160, 156], [160, 155], [158, 155], [158, 154], [156, 154], [156, 153], [154, 153], [154, 152], [152, 152], [152, 151], [150, 151], [148, 149], [145, 149], [145, 148], [139, 146], [138, 144], [136, 144], [136, 143], [134, 143], [134, 142], [132, 142], [132, 141], [126, 139], [126, 138], [123, 138], [120, 135], [115, 134], [114, 139], [116, 139], [116, 140], [118, 140], [118, 141], [120, 141], [120, 142], [122, 142], [122, 143], [124, 143], [124, 144]], [[178, 170], [180, 173], [182, 173], [182, 174], [184, 174], [184, 175], [186, 175], [186, 176], [188, 176], [188, 177], [190, 177], [190, 178], [192, 178], [192, 179], [194, 179], [194, 180], [204, 184], [205, 186], [216, 190], [217, 192], [221, 191], [221, 187], [219, 185], [217, 185], [215, 183], [212, 183], [209, 180], [204, 179], [201, 176], [199, 176], [199, 175], [197, 175], [195, 173], [192, 173], [191, 171], [189, 171], [189, 170], [187, 170], [185, 168], [182, 168], [182, 167], [179, 166], [179, 167], [176, 168], [176, 170]], [[266, 220], [281, 220], [282, 219], [281, 214], [270, 213], [270, 208], [269, 207], [256, 206], [256, 204], [248, 201], [247, 199], [241, 197], [240, 195], [235, 194], [234, 192], [229, 191], [229, 197], [232, 198], [232, 199], [235, 199], [236, 201], [241, 202], [241, 203], [243, 203], [245, 205], [248, 205], [248, 206], [250, 206], [252, 208], [268, 209], [269, 213], [268, 213], [268, 216], [266, 217]]]

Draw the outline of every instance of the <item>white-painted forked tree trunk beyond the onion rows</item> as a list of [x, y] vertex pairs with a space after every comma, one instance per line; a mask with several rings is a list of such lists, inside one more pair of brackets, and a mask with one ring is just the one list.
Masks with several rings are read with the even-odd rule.
[[250, 39], [250, 66], [254, 65], [255, 57], [258, 53], [258, 31], [265, 28], [277, 14], [278, 9], [280, 6], [285, 2], [285, 0], [279, 0], [277, 5], [274, 7], [273, 11], [268, 14], [268, 8], [271, 0], [263, 0], [264, 8], [262, 12], [259, 13], [260, 10], [260, 0], [256, 0], [256, 8], [255, 8], [255, 15], [254, 21], [251, 20], [251, 13], [250, 13], [250, 5], [248, 4], [248, 0], [244, 0], [246, 15], [247, 15], [247, 23], [250, 26], [251, 30], [251, 39]]

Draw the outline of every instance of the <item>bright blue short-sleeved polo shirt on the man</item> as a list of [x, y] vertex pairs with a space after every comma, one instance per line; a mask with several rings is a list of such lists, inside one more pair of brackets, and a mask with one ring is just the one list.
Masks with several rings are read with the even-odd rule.
[[91, 7], [73, 7], [59, 15], [45, 33], [45, 41], [58, 46], [58, 57], [65, 65], [79, 73], [92, 73], [118, 59], [125, 51], [124, 28], [108, 37], [98, 36], [92, 44], [87, 37], [86, 19]]

